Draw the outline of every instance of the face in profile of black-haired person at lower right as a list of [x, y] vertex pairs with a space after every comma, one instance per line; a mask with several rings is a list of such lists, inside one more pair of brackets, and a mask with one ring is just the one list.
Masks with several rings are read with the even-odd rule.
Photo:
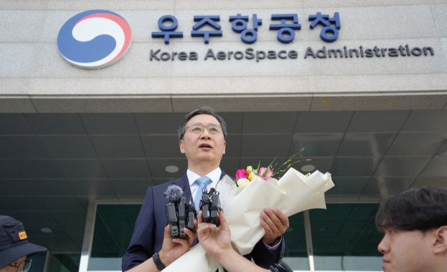
[[418, 230], [383, 227], [383, 231], [385, 236], [377, 247], [383, 254], [383, 271], [431, 271], [432, 236]]

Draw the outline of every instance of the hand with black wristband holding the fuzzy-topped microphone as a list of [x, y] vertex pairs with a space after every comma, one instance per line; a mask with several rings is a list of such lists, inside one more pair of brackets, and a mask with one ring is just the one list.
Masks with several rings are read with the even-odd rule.
[[[194, 220], [194, 225], [197, 229], [196, 220]], [[165, 266], [172, 264], [176, 259], [184, 255], [184, 253], [191, 248], [194, 239], [197, 237], [196, 233], [191, 232], [189, 229], [186, 229], [186, 227], [184, 228], [184, 233], [188, 236], [188, 239], [173, 239], [173, 236], [170, 235], [170, 225], [165, 227], [163, 245], [161, 245], [161, 250], [159, 252], [161, 262], [163, 262]]]

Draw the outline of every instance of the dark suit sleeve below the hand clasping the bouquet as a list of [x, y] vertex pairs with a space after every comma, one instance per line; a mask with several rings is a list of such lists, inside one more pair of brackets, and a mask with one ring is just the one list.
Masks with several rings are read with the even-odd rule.
[[281, 239], [281, 245], [273, 251], [269, 250], [261, 239], [256, 243], [253, 250], [251, 250], [250, 255], [255, 264], [261, 266], [263, 269], [268, 269], [272, 264], [277, 264], [282, 259], [285, 248], [286, 242], [284, 241], [284, 237]]

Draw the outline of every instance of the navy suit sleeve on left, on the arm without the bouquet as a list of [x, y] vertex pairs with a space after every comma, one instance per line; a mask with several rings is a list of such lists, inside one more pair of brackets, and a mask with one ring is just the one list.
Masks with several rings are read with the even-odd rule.
[[122, 271], [128, 271], [154, 255], [155, 218], [152, 187], [146, 191], [131, 243], [122, 260]]

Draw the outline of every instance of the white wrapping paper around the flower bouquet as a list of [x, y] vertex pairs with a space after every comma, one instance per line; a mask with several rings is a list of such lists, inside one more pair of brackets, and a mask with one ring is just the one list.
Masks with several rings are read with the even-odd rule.
[[[231, 186], [231, 182], [233, 181], [223, 179], [218, 190], [221, 192], [221, 206], [231, 229], [233, 248], [241, 255], [251, 252], [264, 236], [260, 214], [266, 206], [279, 209], [286, 216], [308, 209], [325, 209], [324, 192], [334, 187], [329, 173], [316, 171], [305, 176], [293, 168], [288, 169], [278, 182], [274, 179], [264, 181], [256, 176], [243, 190], [230, 190], [228, 186]], [[214, 272], [217, 267], [216, 260], [197, 244], [164, 270]]]

